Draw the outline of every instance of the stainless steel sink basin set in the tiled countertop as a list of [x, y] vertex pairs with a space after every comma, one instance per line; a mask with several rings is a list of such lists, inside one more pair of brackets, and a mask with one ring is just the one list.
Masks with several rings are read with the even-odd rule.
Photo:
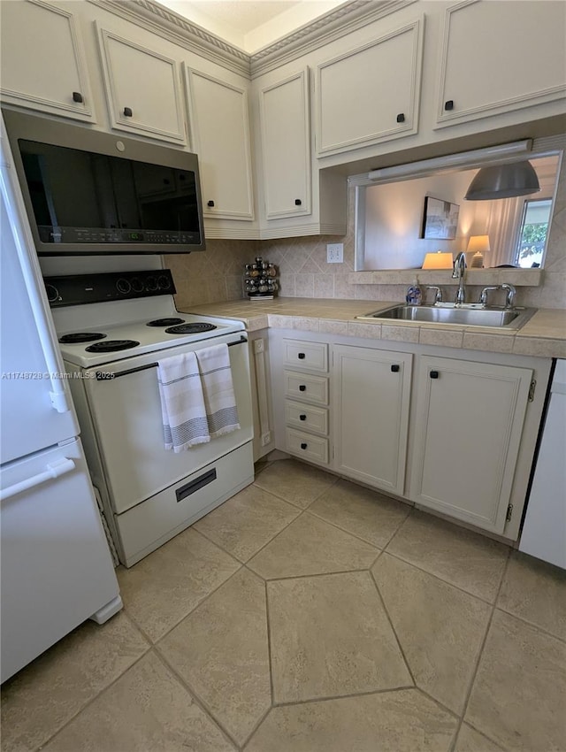
[[385, 318], [397, 321], [424, 321], [432, 324], [460, 326], [499, 326], [519, 329], [535, 313], [535, 308], [488, 308], [480, 303], [436, 303], [435, 305], [405, 305], [401, 303], [384, 311], [366, 313], [356, 318]]

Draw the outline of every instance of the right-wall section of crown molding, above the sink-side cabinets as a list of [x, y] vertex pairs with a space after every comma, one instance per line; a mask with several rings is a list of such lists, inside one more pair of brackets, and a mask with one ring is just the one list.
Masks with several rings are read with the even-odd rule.
[[250, 56], [252, 78], [268, 73], [417, 0], [349, 0]]

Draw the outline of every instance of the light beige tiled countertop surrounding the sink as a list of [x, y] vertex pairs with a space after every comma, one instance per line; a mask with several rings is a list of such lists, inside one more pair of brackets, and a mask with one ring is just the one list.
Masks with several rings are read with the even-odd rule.
[[419, 342], [442, 347], [478, 349], [537, 357], [566, 357], [566, 310], [539, 309], [521, 329], [428, 324], [384, 319], [362, 321], [356, 316], [382, 311], [399, 301], [279, 297], [234, 300], [189, 306], [186, 312], [238, 318], [249, 332], [269, 327], [366, 339]]

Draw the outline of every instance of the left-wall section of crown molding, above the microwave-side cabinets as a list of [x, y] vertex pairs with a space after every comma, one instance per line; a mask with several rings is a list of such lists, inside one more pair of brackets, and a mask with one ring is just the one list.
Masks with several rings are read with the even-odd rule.
[[152, 0], [87, 0], [202, 58], [249, 78], [249, 54]]

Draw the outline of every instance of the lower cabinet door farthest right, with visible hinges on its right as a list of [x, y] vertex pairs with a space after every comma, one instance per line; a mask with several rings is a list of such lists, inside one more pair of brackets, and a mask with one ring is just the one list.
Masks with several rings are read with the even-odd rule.
[[422, 357], [411, 499], [502, 533], [532, 371]]

